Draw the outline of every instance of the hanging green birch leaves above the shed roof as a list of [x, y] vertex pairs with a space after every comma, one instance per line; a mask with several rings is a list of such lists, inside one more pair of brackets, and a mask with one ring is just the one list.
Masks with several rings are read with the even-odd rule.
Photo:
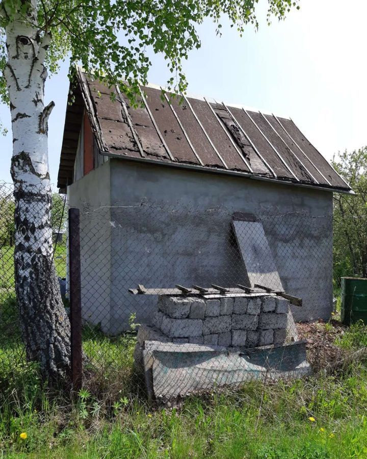
[[[33, 0], [35, 2], [35, 0]], [[7, 63], [5, 28], [19, 13], [27, 20], [31, 0], [2, 0], [0, 16], [0, 69]], [[163, 53], [172, 72], [168, 87], [179, 92], [187, 88], [182, 61], [200, 47], [197, 25], [211, 18], [221, 33], [221, 19], [226, 15], [231, 27], [243, 33], [247, 24], [258, 27], [258, 0], [38, 0], [36, 27], [39, 39], [51, 34], [46, 54], [50, 72], [58, 70], [60, 60], [70, 57], [74, 64], [113, 85], [121, 87], [130, 98], [139, 92], [139, 81], [147, 83], [151, 62], [148, 47]], [[282, 19], [299, 0], [268, 0], [267, 21]], [[71, 75], [70, 75], [71, 76]], [[4, 76], [0, 79], [0, 97], [8, 100]]]

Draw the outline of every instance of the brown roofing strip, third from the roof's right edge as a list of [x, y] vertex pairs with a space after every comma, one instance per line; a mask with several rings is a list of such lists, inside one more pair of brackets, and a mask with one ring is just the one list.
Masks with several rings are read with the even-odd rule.
[[312, 175], [307, 171], [305, 166], [297, 159], [292, 151], [285, 145], [282, 139], [272, 129], [266, 118], [258, 112], [248, 112], [251, 118], [255, 121], [260, 131], [271, 142], [278, 154], [282, 157], [283, 161], [292, 170], [298, 180], [301, 182], [314, 182]]

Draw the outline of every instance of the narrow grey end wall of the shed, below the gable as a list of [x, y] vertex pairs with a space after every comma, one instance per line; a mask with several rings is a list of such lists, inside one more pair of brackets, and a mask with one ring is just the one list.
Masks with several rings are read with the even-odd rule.
[[68, 187], [69, 206], [81, 211], [82, 315], [110, 330], [111, 194], [110, 163]]

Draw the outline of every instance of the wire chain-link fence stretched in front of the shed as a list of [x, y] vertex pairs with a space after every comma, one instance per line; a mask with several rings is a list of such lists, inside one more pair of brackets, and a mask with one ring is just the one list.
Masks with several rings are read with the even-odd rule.
[[[0, 187], [0, 199], [4, 378], [27, 364], [10, 185]], [[140, 380], [149, 396], [167, 401], [250, 379], [308, 375], [343, 358], [332, 215], [246, 214], [148, 199], [134, 206], [85, 202], [79, 222], [69, 221], [75, 254], [64, 202], [54, 195], [54, 262], [68, 314], [70, 294], [80, 289], [71, 315], [80, 306], [82, 321], [76, 314], [71, 324], [82, 342], [86, 385]]]

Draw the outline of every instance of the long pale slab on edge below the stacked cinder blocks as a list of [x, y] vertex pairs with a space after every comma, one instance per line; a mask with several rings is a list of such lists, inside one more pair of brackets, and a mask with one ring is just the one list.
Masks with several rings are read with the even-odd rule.
[[158, 400], [185, 397], [244, 382], [299, 378], [311, 373], [305, 341], [241, 351], [221, 346], [145, 342], [148, 394]]

